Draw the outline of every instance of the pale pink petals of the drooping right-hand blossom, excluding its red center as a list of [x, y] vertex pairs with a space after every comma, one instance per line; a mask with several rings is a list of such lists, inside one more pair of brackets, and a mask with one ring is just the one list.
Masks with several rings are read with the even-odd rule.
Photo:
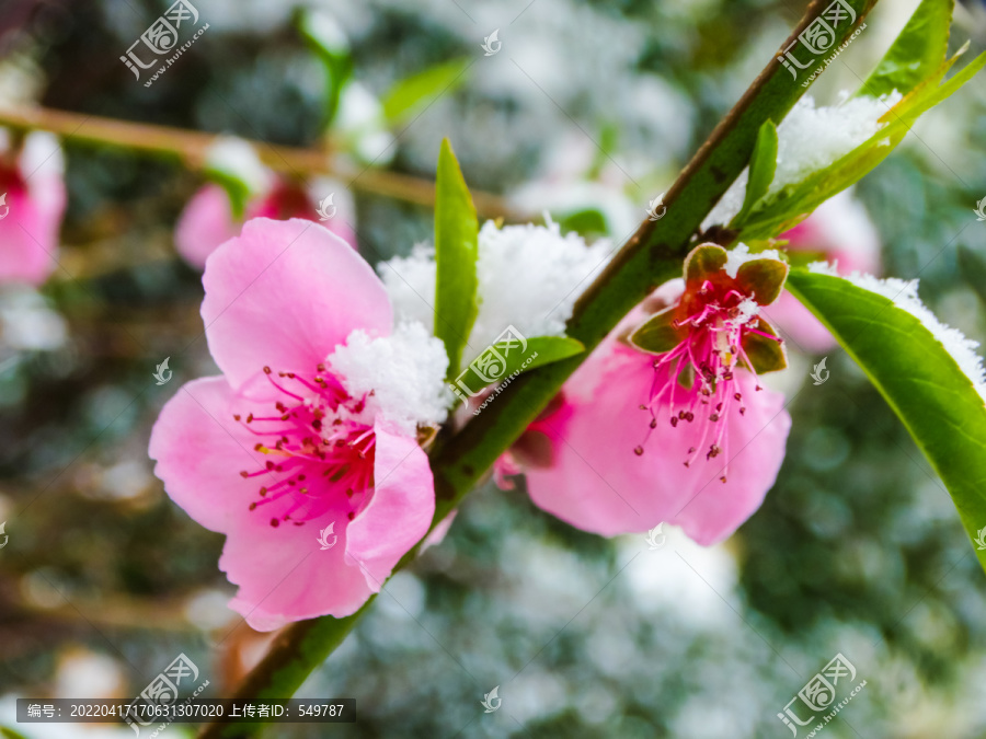
[[[729, 536], [759, 507], [783, 461], [791, 422], [782, 395], [755, 392], [753, 378], [742, 372], [747, 411], [729, 414], [725, 454], [710, 461], [701, 454], [686, 467], [695, 429], [658, 418], [644, 441], [651, 417], [639, 406], [653, 379], [647, 356], [608, 340], [583, 368], [596, 372], [594, 395], [567, 401], [541, 427], [554, 465], [527, 472], [538, 506], [607, 536], [667, 521], [701, 544]], [[640, 457], [633, 451], [639, 444]], [[721, 483], [724, 461], [727, 482]]]

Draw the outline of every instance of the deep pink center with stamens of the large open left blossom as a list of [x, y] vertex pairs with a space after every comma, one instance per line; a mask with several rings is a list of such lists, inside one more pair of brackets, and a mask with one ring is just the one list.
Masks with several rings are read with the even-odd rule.
[[264, 477], [250, 510], [276, 503], [283, 512], [271, 519], [272, 527], [302, 526], [336, 508], [344, 496], [352, 521], [374, 487], [377, 439], [364, 418], [366, 397], [352, 397], [324, 365], [308, 379], [295, 372], [277, 372], [275, 379], [270, 367], [264, 374], [279, 395], [272, 415], [233, 415], [261, 437], [254, 450], [270, 457], [262, 469], [240, 472]]

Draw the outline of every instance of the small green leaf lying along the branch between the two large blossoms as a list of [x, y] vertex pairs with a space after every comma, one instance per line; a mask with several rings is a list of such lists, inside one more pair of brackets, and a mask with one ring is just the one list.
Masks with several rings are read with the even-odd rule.
[[[504, 332], [506, 333], [506, 332]], [[585, 351], [585, 345], [566, 336], [536, 336], [517, 339], [513, 336], [504, 342], [495, 342], [456, 378], [454, 389], [459, 397], [474, 395], [495, 382], [513, 380], [528, 370], [567, 359]]]

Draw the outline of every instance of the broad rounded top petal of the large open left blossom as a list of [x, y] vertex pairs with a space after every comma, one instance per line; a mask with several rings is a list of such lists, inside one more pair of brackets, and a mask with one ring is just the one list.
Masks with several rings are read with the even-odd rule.
[[311, 372], [355, 328], [387, 335], [390, 301], [372, 268], [318, 223], [248, 221], [206, 263], [209, 350], [239, 388], [264, 366]]

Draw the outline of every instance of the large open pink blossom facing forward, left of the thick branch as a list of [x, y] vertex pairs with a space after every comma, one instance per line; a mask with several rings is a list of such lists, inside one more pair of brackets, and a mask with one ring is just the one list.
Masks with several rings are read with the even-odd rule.
[[[248, 221], [209, 258], [203, 284], [222, 374], [188, 382], [161, 411], [154, 473], [194, 520], [226, 534], [219, 567], [251, 626], [348, 615], [425, 535], [435, 509], [406, 408], [394, 409], [381, 384], [366, 390], [391, 368], [356, 356], [397, 340], [383, 285], [344, 241], [299, 219]], [[408, 378], [410, 362], [385, 348]], [[445, 392], [440, 342], [437, 351], [434, 382]]]

